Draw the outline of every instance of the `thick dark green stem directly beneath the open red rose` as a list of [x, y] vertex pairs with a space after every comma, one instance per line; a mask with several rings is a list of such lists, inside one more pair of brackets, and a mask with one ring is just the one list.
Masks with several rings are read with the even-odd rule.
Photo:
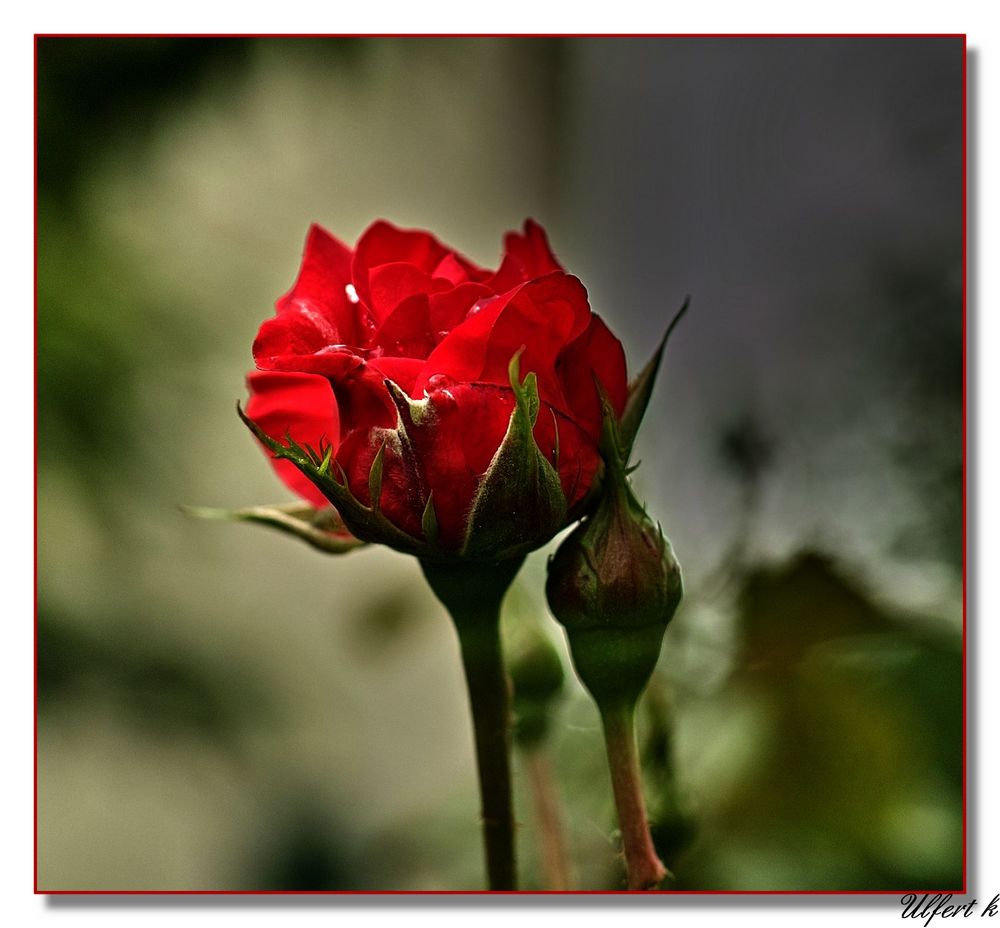
[[421, 562], [458, 632], [476, 742], [486, 872], [493, 890], [517, 888], [510, 682], [500, 647], [500, 603], [523, 562], [523, 558], [499, 564]]

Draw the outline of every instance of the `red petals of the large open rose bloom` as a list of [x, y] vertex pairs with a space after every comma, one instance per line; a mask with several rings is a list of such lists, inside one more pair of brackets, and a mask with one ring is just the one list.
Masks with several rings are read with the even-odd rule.
[[[428, 232], [379, 221], [352, 250], [314, 225], [298, 279], [260, 327], [253, 356], [247, 415], [258, 428], [277, 442], [332, 454], [330, 473], [414, 541], [395, 546], [429, 545], [445, 556], [466, 553], [470, 522], [483, 523], [482, 513], [472, 513], [489, 495], [484, 481], [513, 428], [515, 356], [520, 379], [537, 378], [532, 434], [565, 497], [561, 524], [547, 525], [544, 537], [536, 537], [530, 498], [486, 513], [486, 521], [506, 523], [508, 542], [523, 523], [526, 548], [578, 517], [594, 484], [602, 423], [596, 383], [619, 417], [628, 392], [621, 343], [531, 220], [505, 237], [496, 271]], [[381, 480], [373, 483], [380, 449]], [[294, 463], [273, 463], [295, 493], [330, 505]], [[496, 479], [502, 497], [507, 478]], [[342, 514], [363, 540], [386, 540], [365, 537], [370, 527]]]

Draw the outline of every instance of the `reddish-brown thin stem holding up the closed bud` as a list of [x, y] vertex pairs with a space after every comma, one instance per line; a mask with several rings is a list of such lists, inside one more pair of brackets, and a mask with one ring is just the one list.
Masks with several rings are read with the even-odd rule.
[[635, 703], [614, 701], [599, 708], [622, 832], [628, 888], [655, 889], [667, 875], [667, 869], [656, 856], [642, 799], [642, 775], [635, 745]]

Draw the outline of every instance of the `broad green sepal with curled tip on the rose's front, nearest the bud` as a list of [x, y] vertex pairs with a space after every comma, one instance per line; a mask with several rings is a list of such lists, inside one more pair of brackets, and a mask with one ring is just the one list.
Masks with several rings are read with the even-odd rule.
[[519, 351], [508, 367], [515, 405], [500, 447], [476, 491], [462, 555], [501, 560], [544, 544], [566, 524], [559, 474], [539, 449], [533, 429], [541, 400], [534, 373], [524, 382]]

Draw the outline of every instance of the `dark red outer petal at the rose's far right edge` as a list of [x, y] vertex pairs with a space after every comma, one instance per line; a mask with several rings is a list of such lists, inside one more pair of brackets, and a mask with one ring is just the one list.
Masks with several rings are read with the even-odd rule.
[[562, 381], [569, 411], [584, 425], [595, 443], [601, 435], [601, 402], [594, 385], [600, 381], [618, 416], [625, 409], [628, 381], [625, 350], [596, 313], [590, 326], [559, 355], [556, 370]]

